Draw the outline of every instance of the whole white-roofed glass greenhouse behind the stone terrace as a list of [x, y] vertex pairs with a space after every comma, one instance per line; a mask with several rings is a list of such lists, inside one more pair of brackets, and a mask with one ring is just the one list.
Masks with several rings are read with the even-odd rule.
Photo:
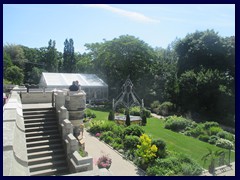
[[39, 87], [46, 91], [68, 89], [73, 81], [79, 82], [81, 90], [86, 93], [87, 101], [108, 100], [108, 85], [95, 74], [43, 72]]

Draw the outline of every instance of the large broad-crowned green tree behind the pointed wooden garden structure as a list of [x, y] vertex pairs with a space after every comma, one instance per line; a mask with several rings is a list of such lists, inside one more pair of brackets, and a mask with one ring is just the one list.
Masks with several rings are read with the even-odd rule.
[[125, 35], [85, 46], [89, 50], [95, 72], [109, 85], [112, 98], [120, 93], [128, 75], [136, 88], [145, 85], [145, 88], [138, 88], [138, 94], [146, 94], [149, 81], [145, 77], [154, 59], [154, 51], [148, 44], [134, 36]]

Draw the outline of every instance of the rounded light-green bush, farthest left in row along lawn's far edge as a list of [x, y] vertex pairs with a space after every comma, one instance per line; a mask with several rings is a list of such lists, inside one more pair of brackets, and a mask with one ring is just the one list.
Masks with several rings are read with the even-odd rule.
[[185, 119], [183, 117], [177, 117], [177, 116], [170, 116], [166, 118], [165, 121], [165, 128], [166, 129], [171, 129], [172, 131], [182, 131], [186, 127], [191, 125], [191, 121], [188, 119]]

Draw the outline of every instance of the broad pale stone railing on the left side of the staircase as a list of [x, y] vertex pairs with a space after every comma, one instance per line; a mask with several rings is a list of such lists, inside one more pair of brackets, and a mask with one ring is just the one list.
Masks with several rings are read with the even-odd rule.
[[29, 176], [22, 103], [12, 92], [3, 107], [3, 175]]

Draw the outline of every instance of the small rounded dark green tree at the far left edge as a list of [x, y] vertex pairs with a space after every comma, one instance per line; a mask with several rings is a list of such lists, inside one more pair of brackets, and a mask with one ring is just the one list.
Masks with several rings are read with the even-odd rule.
[[13, 84], [20, 85], [23, 83], [23, 71], [17, 66], [10, 66], [6, 69], [5, 79]]

